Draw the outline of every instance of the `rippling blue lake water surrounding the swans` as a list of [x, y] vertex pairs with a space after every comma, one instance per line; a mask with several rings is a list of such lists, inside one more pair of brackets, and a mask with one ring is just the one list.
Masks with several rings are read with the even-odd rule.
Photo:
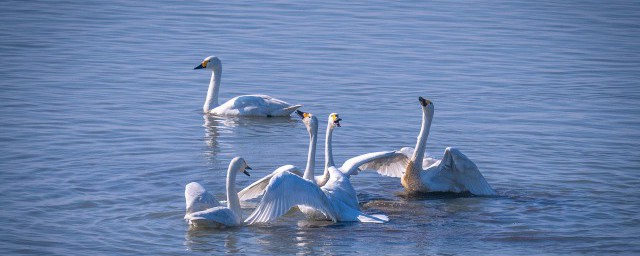
[[[2, 254], [640, 253], [640, 4], [233, 2], [1, 4]], [[222, 100], [340, 113], [338, 163], [414, 145], [431, 99], [427, 152], [459, 148], [499, 196], [363, 174], [391, 222], [189, 231], [185, 184], [223, 198], [234, 156], [244, 186], [308, 142], [295, 117], [203, 118], [208, 55]]]

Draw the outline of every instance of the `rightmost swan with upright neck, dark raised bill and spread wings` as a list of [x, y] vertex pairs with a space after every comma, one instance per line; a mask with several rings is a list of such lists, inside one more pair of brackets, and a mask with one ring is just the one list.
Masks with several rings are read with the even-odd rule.
[[[363, 164], [360, 169], [372, 169], [386, 176], [401, 178], [402, 186], [409, 193], [416, 192], [466, 192], [474, 195], [495, 195], [478, 167], [455, 148], [448, 147], [439, 161], [424, 158], [425, 146], [433, 119], [434, 107], [431, 101], [419, 97], [422, 106], [422, 127], [418, 135], [416, 149], [403, 148]], [[380, 154], [377, 152], [370, 154]], [[363, 156], [366, 156], [365, 154]], [[420, 160], [420, 161], [419, 161]], [[427, 165], [427, 167], [425, 167]], [[348, 175], [357, 173], [352, 169]]]

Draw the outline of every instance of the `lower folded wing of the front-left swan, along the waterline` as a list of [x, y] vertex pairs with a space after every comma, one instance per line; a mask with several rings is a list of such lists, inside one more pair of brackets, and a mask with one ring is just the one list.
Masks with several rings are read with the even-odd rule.
[[189, 225], [193, 225], [195, 227], [216, 227], [219, 225], [231, 227], [240, 225], [238, 222], [239, 218], [236, 214], [233, 213], [231, 209], [224, 206], [218, 206], [204, 211], [187, 214], [184, 219], [189, 222]]

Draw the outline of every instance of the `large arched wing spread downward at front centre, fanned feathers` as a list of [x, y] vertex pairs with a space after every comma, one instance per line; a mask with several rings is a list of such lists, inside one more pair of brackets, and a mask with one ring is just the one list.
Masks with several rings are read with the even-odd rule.
[[314, 208], [337, 220], [327, 195], [316, 184], [290, 172], [281, 172], [271, 178], [260, 204], [245, 222], [269, 222], [296, 205]]

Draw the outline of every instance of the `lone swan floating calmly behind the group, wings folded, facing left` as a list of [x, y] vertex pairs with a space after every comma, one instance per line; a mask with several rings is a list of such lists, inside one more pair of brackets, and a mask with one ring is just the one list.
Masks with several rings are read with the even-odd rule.
[[[220, 116], [289, 116], [302, 105], [291, 105], [267, 95], [242, 95], [218, 105], [218, 92], [222, 77], [222, 62], [215, 56], [205, 58], [194, 69], [211, 69], [211, 82], [202, 110]], [[212, 109], [213, 108], [213, 109]]]

